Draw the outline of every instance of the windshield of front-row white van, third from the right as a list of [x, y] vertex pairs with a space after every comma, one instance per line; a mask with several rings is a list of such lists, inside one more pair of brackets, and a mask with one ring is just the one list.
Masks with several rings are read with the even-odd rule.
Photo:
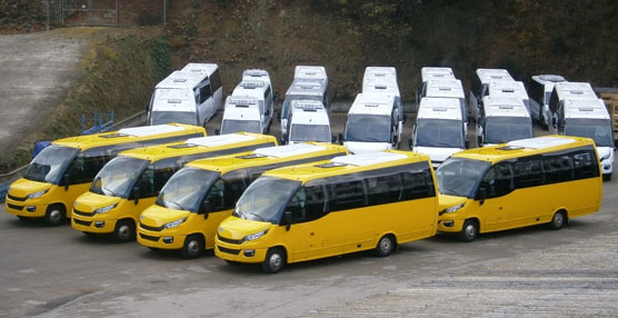
[[419, 119], [417, 147], [464, 148], [464, 123], [449, 119]]

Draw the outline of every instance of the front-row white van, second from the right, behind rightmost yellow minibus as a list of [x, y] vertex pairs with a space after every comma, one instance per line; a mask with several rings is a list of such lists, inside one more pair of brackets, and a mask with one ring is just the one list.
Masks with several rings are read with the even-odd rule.
[[477, 123], [479, 146], [532, 138], [532, 119], [524, 101], [515, 97], [486, 96]]

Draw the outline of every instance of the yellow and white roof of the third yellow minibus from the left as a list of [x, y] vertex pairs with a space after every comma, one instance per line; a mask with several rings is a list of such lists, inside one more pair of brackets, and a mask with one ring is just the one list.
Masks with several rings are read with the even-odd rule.
[[348, 148], [333, 143], [303, 142], [287, 146], [266, 147], [248, 152], [200, 159], [191, 161], [187, 163], [187, 166], [203, 170], [219, 171], [221, 175], [225, 175], [243, 168], [338, 153], [341, 156], [348, 155]]

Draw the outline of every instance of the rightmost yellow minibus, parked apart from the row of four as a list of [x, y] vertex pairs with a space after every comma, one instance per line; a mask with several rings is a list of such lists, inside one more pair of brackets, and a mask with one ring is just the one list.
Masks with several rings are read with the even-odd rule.
[[438, 231], [478, 233], [547, 223], [598, 211], [602, 179], [595, 141], [545, 136], [457, 152], [436, 175]]

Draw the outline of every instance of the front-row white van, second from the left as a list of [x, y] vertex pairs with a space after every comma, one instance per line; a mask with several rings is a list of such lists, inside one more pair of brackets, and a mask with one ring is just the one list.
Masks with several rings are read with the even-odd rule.
[[220, 133], [266, 133], [269, 122], [263, 117], [263, 105], [260, 101], [252, 96], [229, 96], [226, 99]]

